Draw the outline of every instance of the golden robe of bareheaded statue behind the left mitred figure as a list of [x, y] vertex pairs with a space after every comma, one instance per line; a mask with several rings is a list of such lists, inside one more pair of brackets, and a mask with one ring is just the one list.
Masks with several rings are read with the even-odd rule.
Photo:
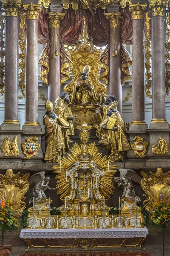
[[72, 112], [71, 112], [71, 108], [69, 108], [64, 99], [58, 97], [56, 99], [56, 101], [54, 102], [54, 113], [59, 116], [59, 117], [62, 117], [65, 119], [65, 121], [68, 123], [68, 126], [70, 126], [70, 129], [67, 129], [67, 134], [70, 135], [70, 136], [74, 136], [74, 125], [73, 125], [73, 122], [72, 121], [68, 121], [67, 120], [67, 116], [71, 116], [73, 117], [72, 115]]

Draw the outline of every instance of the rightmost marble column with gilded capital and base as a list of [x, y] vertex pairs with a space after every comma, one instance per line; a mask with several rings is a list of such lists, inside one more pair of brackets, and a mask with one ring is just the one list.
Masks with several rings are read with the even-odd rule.
[[[150, 1], [152, 8], [152, 121], [150, 128], [165, 128], [165, 44], [164, 11], [167, 2]], [[166, 124], [164, 124], [166, 123]]]

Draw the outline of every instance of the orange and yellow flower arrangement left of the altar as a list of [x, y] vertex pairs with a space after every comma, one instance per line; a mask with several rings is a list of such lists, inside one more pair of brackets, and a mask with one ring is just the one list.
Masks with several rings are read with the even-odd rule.
[[15, 218], [15, 212], [9, 205], [9, 201], [0, 201], [0, 230], [3, 232], [16, 230], [19, 227], [17, 218]]

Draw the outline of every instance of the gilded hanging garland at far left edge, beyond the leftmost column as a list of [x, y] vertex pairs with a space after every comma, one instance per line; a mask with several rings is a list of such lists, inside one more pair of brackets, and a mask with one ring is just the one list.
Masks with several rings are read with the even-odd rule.
[[4, 19], [5, 16], [3, 15], [4, 10], [0, 9], [0, 93], [1, 95], [4, 94], [4, 76], [5, 76], [5, 33], [4, 33]]

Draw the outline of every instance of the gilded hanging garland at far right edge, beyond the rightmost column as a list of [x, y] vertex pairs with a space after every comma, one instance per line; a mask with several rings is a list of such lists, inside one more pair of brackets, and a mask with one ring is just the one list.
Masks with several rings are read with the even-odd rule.
[[166, 87], [166, 94], [169, 95], [170, 89], [170, 14], [169, 11], [166, 11], [166, 41], [165, 41], [165, 87]]

